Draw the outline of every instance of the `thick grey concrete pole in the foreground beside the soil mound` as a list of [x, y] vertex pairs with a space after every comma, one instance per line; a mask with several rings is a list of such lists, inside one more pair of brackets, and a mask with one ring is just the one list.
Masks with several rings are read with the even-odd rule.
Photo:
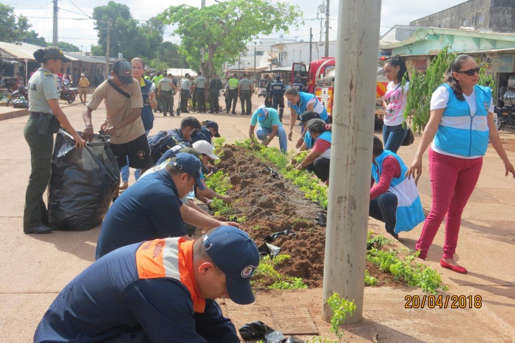
[[[328, 6], [329, 7], [329, 6]], [[322, 318], [336, 292], [354, 300], [363, 318], [363, 290], [372, 162], [374, 93], [381, 0], [340, 0], [333, 107], [329, 207], [325, 236]], [[345, 61], [342, 62], [342, 61]], [[341, 176], [345, 177], [341, 177]]]

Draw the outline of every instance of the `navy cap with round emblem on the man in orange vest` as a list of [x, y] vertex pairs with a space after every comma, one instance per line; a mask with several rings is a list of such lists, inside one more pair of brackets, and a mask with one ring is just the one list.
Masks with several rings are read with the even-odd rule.
[[226, 275], [227, 293], [240, 305], [254, 302], [250, 278], [259, 265], [258, 246], [249, 235], [233, 226], [220, 226], [203, 237], [213, 263]]

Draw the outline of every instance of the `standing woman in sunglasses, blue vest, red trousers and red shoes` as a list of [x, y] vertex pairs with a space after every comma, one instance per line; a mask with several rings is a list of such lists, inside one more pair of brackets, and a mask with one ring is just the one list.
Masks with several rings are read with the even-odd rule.
[[458, 273], [467, 269], [454, 261], [461, 213], [476, 185], [488, 141], [504, 162], [505, 175], [515, 170], [506, 156], [493, 122], [492, 90], [477, 85], [479, 67], [468, 55], [456, 57], [431, 97], [431, 115], [422, 134], [408, 177], [422, 173], [422, 155], [431, 144], [429, 165], [433, 203], [417, 242], [419, 258], [427, 251], [443, 217], [445, 242], [440, 265]]

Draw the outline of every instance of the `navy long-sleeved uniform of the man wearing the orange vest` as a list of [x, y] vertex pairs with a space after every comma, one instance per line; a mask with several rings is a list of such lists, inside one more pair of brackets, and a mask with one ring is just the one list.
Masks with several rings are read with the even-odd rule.
[[107, 254], [68, 283], [43, 316], [34, 342], [239, 342], [216, 301], [206, 299], [204, 312], [197, 313], [179, 280], [141, 279], [135, 258], [140, 245]]

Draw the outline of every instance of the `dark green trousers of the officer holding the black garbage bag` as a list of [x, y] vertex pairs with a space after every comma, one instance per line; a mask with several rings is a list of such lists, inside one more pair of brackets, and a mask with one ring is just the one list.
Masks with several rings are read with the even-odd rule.
[[31, 170], [23, 211], [23, 228], [28, 230], [40, 224], [48, 225], [48, 212], [43, 201], [43, 193], [50, 181], [54, 134], [50, 131], [39, 134], [38, 119], [29, 117], [23, 135], [30, 148]]

